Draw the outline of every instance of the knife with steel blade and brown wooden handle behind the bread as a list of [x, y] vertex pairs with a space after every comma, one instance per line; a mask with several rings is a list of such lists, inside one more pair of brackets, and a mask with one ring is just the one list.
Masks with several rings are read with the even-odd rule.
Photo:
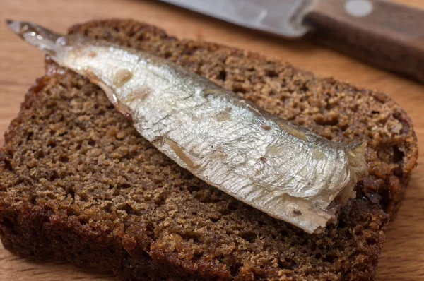
[[161, 0], [326, 47], [424, 83], [424, 11], [383, 0]]

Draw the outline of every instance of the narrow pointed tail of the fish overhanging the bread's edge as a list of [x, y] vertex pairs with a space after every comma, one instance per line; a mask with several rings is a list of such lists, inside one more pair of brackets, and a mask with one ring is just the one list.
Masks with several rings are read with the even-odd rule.
[[35, 23], [20, 22], [16, 20], [6, 20], [8, 28], [21, 37], [28, 44], [37, 47], [46, 54], [54, 56], [56, 54], [57, 40], [62, 37], [52, 30], [43, 28]]

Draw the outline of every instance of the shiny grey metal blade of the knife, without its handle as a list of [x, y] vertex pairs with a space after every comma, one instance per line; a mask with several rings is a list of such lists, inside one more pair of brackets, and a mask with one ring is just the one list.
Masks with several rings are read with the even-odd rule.
[[302, 12], [312, 0], [162, 0], [213, 18], [288, 38], [305, 35]]

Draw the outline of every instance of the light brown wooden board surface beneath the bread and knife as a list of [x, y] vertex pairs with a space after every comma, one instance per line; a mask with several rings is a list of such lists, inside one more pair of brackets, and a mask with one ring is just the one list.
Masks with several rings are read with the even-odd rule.
[[[424, 8], [423, 0], [398, 0]], [[30, 20], [58, 32], [95, 18], [135, 18], [158, 25], [171, 35], [228, 44], [290, 61], [319, 76], [334, 76], [386, 92], [413, 119], [424, 151], [424, 85], [400, 78], [305, 41], [287, 42], [242, 30], [153, 1], [136, 0], [0, 0], [0, 145], [35, 78], [42, 76], [43, 56], [8, 32], [5, 18]], [[423, 153], [420, 153], [423, 154]], [[424, 280], [424, 155], [413, 172], [406, 198], [387, 232], [376, 280]], [[72, 265], [31, 263], [0, 246], [0, 280], [112, 280]]]

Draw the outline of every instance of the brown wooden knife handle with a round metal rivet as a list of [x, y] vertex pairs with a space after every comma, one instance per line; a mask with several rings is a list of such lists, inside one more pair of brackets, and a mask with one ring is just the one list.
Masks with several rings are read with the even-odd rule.
[[316, 0], [305, 23], [326, 47], [424, 83], [424, 11], [382, 0]]

